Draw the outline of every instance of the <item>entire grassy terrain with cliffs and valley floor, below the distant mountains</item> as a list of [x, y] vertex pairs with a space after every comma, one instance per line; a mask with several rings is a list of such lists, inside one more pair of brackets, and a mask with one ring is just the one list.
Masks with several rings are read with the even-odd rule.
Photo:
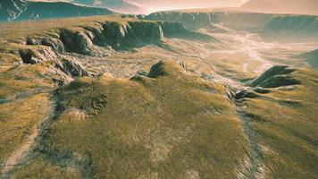
[[0, 28], [0, 177], [318, 177], [318, 73], [296, 68], [314, 43], [118, 15]]

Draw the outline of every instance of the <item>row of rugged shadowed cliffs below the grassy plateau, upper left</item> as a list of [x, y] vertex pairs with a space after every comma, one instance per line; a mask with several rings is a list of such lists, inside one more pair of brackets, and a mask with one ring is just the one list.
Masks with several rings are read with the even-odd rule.
[[106, 21], [95, 26], [63, 28], [54, 36], [29, 36], [18, 50], [24, 64], [54, 60], [65, 53], [96, 55], [97, 47], [127, 50], [148, 44], [160, 44], [163, 37], [181, 35], [188, 30], [172, 21]]

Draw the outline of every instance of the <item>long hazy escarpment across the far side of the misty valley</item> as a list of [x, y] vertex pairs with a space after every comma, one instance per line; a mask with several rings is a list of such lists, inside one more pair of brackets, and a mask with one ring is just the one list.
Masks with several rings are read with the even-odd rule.
[[[270, 13], [213, 12], [151, 13], [143, 19], [152, 21], [180, 21], [188, 30], [222, 24], [233, 30], [259, 32], [264, 38], [287, 38], [290, 40], [317, 40], [318, 18], [315, 15], [277, 15]], [[306, 27], [306, 28], [303, 28]]]

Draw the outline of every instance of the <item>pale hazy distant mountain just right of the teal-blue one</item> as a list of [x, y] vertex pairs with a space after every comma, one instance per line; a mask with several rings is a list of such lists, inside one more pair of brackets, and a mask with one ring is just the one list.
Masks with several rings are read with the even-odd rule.
[[105, 7], [121, 13], [146, 13], [145, 8], [128, 0], [73, 0], [72, 3]]

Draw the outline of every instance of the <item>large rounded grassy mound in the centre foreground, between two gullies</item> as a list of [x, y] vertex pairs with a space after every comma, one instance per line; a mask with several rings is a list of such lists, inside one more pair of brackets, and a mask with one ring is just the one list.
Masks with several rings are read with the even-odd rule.
[[[62, 114], [40, 153], [48, 162], [68, 153], [56, 167], [87, 177], [233, 178], [246, 143], [225, 94], [170, 61], [132, 80], [81, 78], [58, 91]], [[37, 159], [18, 174], [38, 175], [49, 166], [41, 165]]]

